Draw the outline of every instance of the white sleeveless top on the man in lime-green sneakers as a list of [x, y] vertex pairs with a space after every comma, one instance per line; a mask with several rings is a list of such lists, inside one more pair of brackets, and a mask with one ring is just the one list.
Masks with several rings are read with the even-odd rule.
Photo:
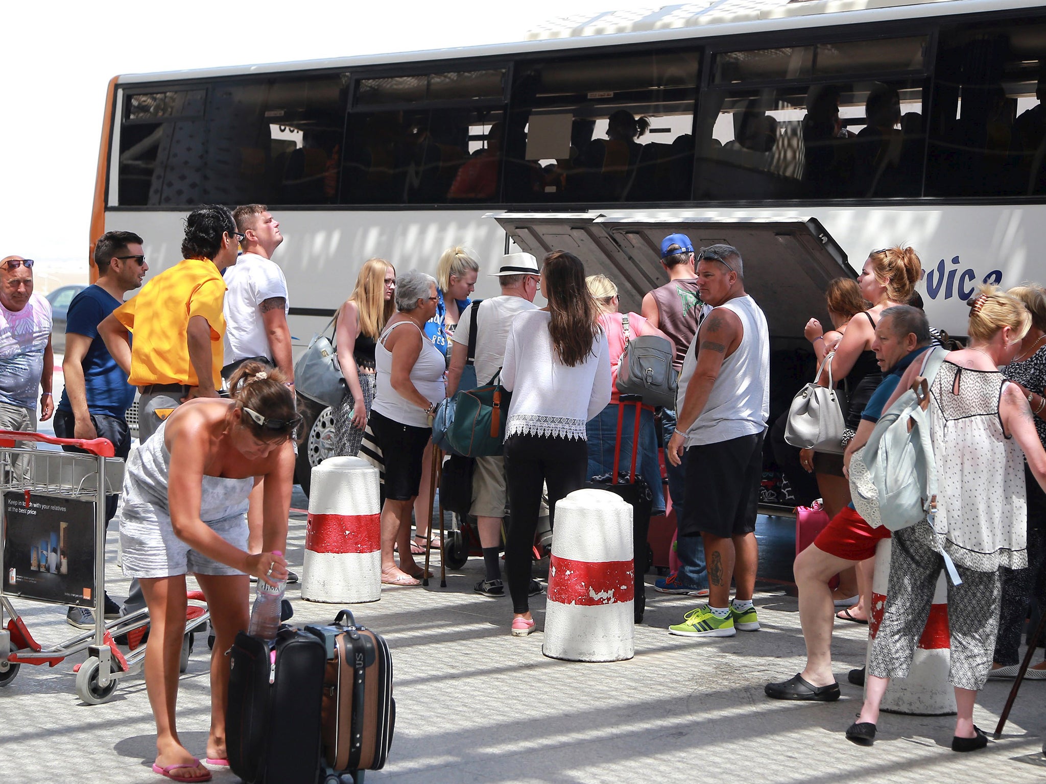
[[[747, 294], [719, 307], [736, 314], [744, 330], [737, 349], [723, 361], [704, 411], [686, 431], [686, 446], [719, 443], [761, 433], [770, 416], [770, 330], [767, 317]], [[719, 308], [712, 308], [709, 316]], [[700, 336], [700, 331], [698, 332]], [[699, 339], [690, 342], [679, 376], [677, 411], [698, 364]]]

